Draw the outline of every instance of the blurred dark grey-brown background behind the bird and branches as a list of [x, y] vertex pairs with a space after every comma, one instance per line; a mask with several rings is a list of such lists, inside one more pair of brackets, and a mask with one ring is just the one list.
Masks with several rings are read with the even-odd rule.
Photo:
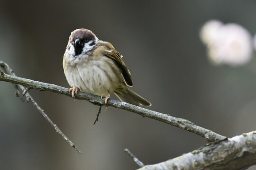
[[[0, 60], [17, 76], [68, 87], [62, 68], [70, 33], [88, 28], [114, 44], [130, 69], [132, 90], [151, 110], [188, 119], [223, 136], [256, 130], [256, 59], [239, 67], [213, 65], [200, 38], [209, 19], [256, 33], [256, 1], [58, 0], [0, 1]], [[87, 101], [29, 93], [82, 151], [66, 143], [31, 103], [0, 82], [0, 168], [5, 170], [133, 170], [128, 148], [144, 164], [188, 153], [200, 136]], [[114, 97], [114, 94], [112, 95]], [[256, 170], [251, 167], [250, 170]]]

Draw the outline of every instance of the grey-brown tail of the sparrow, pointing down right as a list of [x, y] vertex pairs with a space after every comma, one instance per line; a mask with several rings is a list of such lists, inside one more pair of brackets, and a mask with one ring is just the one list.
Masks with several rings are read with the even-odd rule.
[[126, 87], [126, 91], [121, 93], [114, 92], [117, 97], [123, 101], [134, 104], [136, 106], [151, 106], [151, 103], [141, 97], [139, 94], [134, 93], [132, 90]]

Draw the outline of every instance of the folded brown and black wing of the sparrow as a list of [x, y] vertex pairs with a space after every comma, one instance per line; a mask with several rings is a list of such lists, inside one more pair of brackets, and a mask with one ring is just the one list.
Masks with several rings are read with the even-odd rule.
[[122, 70], [123, 79], [128, 86], [133, 86], [133, 80], [131, 77], [131, 73], [128, 70], [128, 68], [125, 66], [123, 60], [122, 60], [122, 54], [120, 54], [118, 51], [114, 49], [114, 46], [110, 42], [102, 42], [102, 44], [99, 43], [99, 45], [105, 45], [107, 46], [108, 50], [104, 51], [104, 55], [113, 59], [117, 66]]

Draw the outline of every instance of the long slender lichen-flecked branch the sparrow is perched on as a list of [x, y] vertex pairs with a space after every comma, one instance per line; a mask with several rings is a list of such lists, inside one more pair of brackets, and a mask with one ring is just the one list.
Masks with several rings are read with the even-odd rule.
[[[0, 61], [0, 63], [3, 63], [3, 62]], [[5, 74], [1, 70], [0, 70], [0, 80], [27, 86], [28, 88], [31, 88], [31, 89], [46, 90], [46, 91], [51, 91], [54, 93], [64, 94], [66, 96], [72, 97], [72, 95], [69, 93], [69, 89], [65, 87], [43, 83], [39, 81], [34, 81], [34, 80], [30, 80], [30, 79], [22, 78], [18, 76], [11, 76], [11, 75]], [[90, 93], [78, 92], [78, 95], [76, 95], [76, 99], [87, 100], [89, 102], [92, 102], [95, 105], [104, 105], [104, 99], [101, 99], [100, 96], [93, 95]], [[134, 113], [142, 115], [142, 117], [159, 120], [161, 122], [173, 125], [175, 127], [182, 128], [189, 132], [195, 133], [210, 142], [216, 142], [216, 141], [224, 140], [227, 138], [226, 136], [221, 136], [213, 131], [210, 131], [203, 127], [199, 127], [189, 120], [172, 117], [168, 114], [163, 114], [160, 112], [148, 110], [148, 109], [138, 107], [126, 102], [110, 99], [108, 101], [108, 106], [113, 106], [115, 108], [132, 111]]]

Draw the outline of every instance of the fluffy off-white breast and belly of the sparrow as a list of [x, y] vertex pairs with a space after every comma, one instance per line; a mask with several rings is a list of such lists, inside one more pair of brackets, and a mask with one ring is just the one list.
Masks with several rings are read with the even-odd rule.
[[89, 59], [88, 56], [78, 56], [70, 59], [66, 56], [64, 62], [68, 84], [73, 88], [78, 87], [82, 92], [102, 95], [123, 86], [120, 69], [108, 57]]

